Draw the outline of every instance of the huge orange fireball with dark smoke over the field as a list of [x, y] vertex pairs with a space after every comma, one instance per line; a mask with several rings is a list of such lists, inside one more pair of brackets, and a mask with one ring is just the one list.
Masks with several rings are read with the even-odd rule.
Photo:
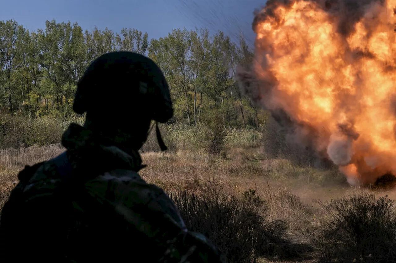
[[396, 175], [396, 0], [269, 0], [244, 91], [350, 184]]

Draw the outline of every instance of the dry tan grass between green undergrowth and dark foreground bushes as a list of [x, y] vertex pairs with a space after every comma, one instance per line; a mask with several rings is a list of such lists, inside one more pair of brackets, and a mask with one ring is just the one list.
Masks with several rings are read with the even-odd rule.
[[[63, 150], [60, 145], [1, 150], [0, 206], [8, 198], [17, 183], [17, 173], [25, 165], [48, 160]], [[308, 244], [310, 237], [306, 233], [314, 231], [328, 216], [320, 202], [372, 192], [349, 187], [337, 170], [301, 167], [282, 158], [270, 159], [262, 148], [232, 148], [223, 158], [199, 150], [145, 152], [142, 157], [148, 165], [141, 171], [142, 177], [168, 193], [185, 191], [204, 195], [210, 189], [221, 189], [221, 196], [239, 198], [246, 191], [255, 190], [256, 195], [265, 201], [260, 213], [266, 224], [282, 221], [287, 226], [284, 233], [287, 242], [267, 244], [266, 249], [271, 253], [267, 251], [267, 259], [257, 262], [313, 262], [309, 257], [312, 254]], [[396, 193], [386, 190], [374, 193], [396, 198]]]

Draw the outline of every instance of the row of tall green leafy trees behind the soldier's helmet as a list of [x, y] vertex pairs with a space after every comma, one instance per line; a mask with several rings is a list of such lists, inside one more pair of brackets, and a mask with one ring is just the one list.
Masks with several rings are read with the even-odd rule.
[[174, 101], [171, 123], [197, 125], [213, 116], [221, 116], [225, 128], [262, 122], [235, 80], [237, 65], [249, 66], [253, 58], [243, 38], [235, 44], [220, 31], [175, 29], [149, 40], [134, 28], [119, 34], [108, 28], [84, 31], [55, 20], [36, 32], [14, 20], [0, 21], [0, 110], [38, 118], [74, 115], [78, 80], [92, 60], [111, 51], [137, 52], [158, 63]]

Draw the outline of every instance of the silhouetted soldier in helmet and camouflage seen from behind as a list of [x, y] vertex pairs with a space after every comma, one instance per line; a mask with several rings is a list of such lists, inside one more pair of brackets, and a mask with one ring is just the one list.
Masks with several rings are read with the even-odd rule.
[[[2, 211], [0, 260], [225, 262], [138, 174], [151, 121], [173, 116], [158, 66], [136, 53], [104, 54], [78, 82], [73, 110], [86, 122], [63, 134], [67, 151], [18, 175]], [[165, 150], [158, 124], [156, 132]]]

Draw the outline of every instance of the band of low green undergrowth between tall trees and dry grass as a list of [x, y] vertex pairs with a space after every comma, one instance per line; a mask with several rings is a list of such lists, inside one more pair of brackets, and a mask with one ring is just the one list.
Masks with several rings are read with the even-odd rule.
[[[169, 150], [205, 150], [210, 154], [223, 154], [226, 147], [255, 147], [263, 134], [253, 129], [225, 129], [219, 116], [207, 118], [199, 126], [180, 124], [160, 125], [161, 134]], [[84, 124], [84, 117], [55, 119], [51, 117], [26, 118], [0, 115], [0, 148], [19, 148], [33, 145], [60, 143], [63, 132], [71, 122]], [[158, 152], [155, 127], [141, 152]]]

